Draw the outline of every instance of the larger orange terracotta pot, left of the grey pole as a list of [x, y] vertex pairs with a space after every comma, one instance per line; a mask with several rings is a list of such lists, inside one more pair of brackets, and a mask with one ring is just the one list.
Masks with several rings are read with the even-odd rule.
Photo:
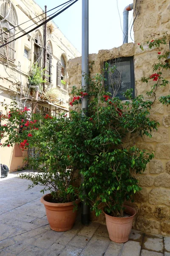
[[[40, 199], [41, 203], [44, 204], [46, 215], [50, 227], [54, 231], [67, 231], [70, 230], [75, 222], [77, 211], [73, 212], [74, 204], [70, 203], [50, 203], [48, 202], [51, 198], [51, 194], [42, 196]], [[75, 203], [79, 204], [80, 199], [76, 200]]]

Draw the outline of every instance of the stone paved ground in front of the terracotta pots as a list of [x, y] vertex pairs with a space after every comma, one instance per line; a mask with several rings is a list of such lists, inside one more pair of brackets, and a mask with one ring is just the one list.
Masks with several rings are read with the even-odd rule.
[[40, 187], [27, 190], [28, 180], [16, 173], [0, 179], [0, 256], [170, 256], [170, 237], [132, 230], [125, 244], [110, 241], [105, 225], [50, 230]]

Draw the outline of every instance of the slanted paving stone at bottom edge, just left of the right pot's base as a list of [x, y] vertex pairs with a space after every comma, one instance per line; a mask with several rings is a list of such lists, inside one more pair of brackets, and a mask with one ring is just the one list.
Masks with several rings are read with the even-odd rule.
[[94, 235], [80, 256], [103, 256], [109, 243], [108, 237]]

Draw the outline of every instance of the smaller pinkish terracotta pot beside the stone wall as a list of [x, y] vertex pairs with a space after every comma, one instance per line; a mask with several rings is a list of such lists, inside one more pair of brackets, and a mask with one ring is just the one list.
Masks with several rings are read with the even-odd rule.
[[117, 218], [109, 216], [104, 212], [109, 238], [116, 243], [125, 243], [128, 241], [132, 229], [133, 217], [136, 215], [136, 210], [130, 206], [125, 206], [124, 211], [131, 216], [127, 218]]

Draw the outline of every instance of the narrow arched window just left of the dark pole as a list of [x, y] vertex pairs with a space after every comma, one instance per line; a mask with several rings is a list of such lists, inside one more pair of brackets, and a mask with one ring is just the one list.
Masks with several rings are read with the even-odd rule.
[[36, 32], [34, 38], [34, 63], [37, 62], [38, 67], [41, 66], [41, 48], [42, 48], [42, 39], [40, 32]]

